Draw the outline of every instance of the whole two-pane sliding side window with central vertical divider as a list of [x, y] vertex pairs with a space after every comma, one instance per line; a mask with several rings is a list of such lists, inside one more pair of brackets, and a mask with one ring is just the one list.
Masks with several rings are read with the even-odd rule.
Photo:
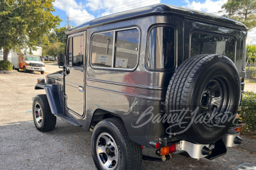
[[125, 29], [94, 34], [92, 37], [92, 67], [134, 69], [138, 64], [140, 32]]

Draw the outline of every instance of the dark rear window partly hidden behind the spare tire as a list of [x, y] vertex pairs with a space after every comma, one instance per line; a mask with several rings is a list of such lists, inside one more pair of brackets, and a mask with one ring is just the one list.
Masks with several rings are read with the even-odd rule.
[[191, 35], [191, 57], [203, 53], [216, 53], [226, 55], [234, 61], [234, 45], [235, 41], [232, 38], [194, 32]]

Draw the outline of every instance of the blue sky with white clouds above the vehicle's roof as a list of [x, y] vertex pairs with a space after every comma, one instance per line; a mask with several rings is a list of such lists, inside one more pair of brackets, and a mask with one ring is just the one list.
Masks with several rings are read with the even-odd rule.
[[[54, 15], [59, 15], [60, 27], [67, 25], [67, 16], [72, 26], [83, 24], [94, 18], [111, 13], [140, 8], [151, 4], [165, 3], [174, 6], [183, 6], [193, 10], [205, 11], [216, 15], [223, 15], [221, 6], [228, 0], [55, 0]], [[220, 12], [221, 11], [221, 12]], [[249, 32], [248, 43], [256, 43], [256, 29]]]

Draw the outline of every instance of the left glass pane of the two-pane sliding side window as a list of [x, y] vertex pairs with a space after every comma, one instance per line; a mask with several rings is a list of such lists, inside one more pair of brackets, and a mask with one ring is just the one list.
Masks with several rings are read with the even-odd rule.
[[93, 35], [92, 58], [93, 67], [112, 67], [114, 32]]

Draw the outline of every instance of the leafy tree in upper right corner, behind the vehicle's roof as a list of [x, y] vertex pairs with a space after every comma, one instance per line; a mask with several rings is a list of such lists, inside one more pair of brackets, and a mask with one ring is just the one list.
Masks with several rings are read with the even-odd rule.
[[256, 27], [256, 0], [230, 0], [222, 8], [230, 12], [231, 19], [242, 22], [248, 29]]

